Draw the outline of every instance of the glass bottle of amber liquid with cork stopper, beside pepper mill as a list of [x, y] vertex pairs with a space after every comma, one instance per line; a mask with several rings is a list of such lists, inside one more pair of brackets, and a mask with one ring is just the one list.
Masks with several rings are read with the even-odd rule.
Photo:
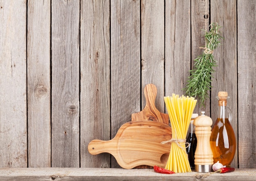
[[213, 162], [220, 162], [224, 166], [230, 166], [236, 153], [236, 136], [230, 124], [231, 110], [227, 107], [227, 92], [219, 92], [218, 117], [213, 126], [210, 145], [213, 152]]

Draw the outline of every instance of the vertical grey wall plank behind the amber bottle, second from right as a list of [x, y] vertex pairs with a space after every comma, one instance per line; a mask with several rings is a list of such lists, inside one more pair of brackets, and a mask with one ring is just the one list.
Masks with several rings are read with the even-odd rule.
[[[226, 91], [230, 99], [227, 106], [232, 111], [231, 125], [236, 134], [236, 143], [238, 140], [237, 132], [237, 26], [236, 26], [236, 0], [218, 0], [211, 1], [211, 22], [218, 22], [223, 40], [220, 46], [213, 52], [215, 59], [218, 61], [217, 67], [214, 68], [215, 79], [212, 82], [211, 90], [211, 118], [213, 124], [218, 116], [218, 101], [215, 98], [219, 91]], [[236, 144], [237, 146], [237, 144]], [[238, 167], [238, 151], [231, 163], [232, 167]]]

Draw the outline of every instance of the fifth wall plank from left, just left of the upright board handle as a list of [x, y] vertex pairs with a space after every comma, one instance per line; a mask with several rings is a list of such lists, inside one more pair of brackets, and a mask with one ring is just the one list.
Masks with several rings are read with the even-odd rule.
[[[140, 2], [111, 0], [111, 138], [140, 111]], [[112, 167], [119, 167], [112, 157]]]

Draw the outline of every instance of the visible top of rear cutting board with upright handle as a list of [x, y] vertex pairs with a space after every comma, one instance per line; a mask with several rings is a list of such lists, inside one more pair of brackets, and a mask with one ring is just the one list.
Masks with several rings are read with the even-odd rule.
[[157, 87], [154, 84], [147, 84], [144, 88], [146, 105], [139, 113], [132, 114], [132, 121], [157, 121], [169, 124], [169, 116], [155, 107], [155, 98], [157, 97]]

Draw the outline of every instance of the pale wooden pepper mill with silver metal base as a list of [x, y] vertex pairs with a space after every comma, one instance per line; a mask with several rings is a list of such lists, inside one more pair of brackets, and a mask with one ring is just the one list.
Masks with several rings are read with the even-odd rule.
[[212, 119], [201, 115], [194, 120], [195, 135], [198, 140], [195, 149], [195, 172], [211, 172], [213, 165], [213, 153], [210, 146]]

